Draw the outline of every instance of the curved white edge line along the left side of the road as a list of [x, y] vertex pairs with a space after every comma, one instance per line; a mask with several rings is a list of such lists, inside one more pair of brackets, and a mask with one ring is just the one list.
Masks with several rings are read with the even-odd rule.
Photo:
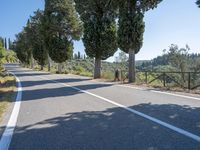
[[[13, 74], [13, 73], [11, 73], [11, 74]], [[19, 109], [20, 109], [20, 105], [21, 105], [22, 86], [21, 86], [20, 80], [16, 76], [15, 76], [15, 78], [17, 81], [17, 97], [16, 97], [16, 101], [14, 103], [14, 108], [13, 108], [12, 114], [10, 116], [10, 119], [8, 121], [6, 129], [0, 140], [0, 150], [8, 150], [8, 148], [9, 148], [9, 145], [11, 143], [11, 139], [13, 136], [13, 132], [14, 132], [14, 129], [15, 129], [15, 126], [17, 123], [17, 117], [18, 117]]]

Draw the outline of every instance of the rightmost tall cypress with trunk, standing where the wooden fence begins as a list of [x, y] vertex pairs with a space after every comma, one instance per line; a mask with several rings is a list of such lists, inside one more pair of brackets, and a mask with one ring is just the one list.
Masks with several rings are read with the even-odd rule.
[[144, 13], [155, 8], [162, 0], [118, 0], [118, 44], [129, 53], [129, 82], [135, 82], [135, 54], [143, 44]]

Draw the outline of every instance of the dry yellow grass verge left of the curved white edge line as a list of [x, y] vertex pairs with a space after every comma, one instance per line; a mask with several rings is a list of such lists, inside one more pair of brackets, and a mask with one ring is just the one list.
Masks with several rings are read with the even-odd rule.
[[0, 75], [0, 121], [15, 96], [16, 82], [13, 76]]

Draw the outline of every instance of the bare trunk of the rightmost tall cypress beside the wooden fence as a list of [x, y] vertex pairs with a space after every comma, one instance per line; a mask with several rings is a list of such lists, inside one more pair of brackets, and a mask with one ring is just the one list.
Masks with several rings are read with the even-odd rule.
[[129, 83], [135, 82], [135, 51], [129, 50], [129, 73], [128, 73]]

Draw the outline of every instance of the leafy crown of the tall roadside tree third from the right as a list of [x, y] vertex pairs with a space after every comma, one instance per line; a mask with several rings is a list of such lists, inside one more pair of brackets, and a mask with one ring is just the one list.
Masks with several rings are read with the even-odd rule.
[[[45, 0], [45, 45], [57, 63], [72, 57], [73, 40], [79, 40], [82, 24], [73, 0]], [[61, 70], [59, 69], [59, 72]]]

